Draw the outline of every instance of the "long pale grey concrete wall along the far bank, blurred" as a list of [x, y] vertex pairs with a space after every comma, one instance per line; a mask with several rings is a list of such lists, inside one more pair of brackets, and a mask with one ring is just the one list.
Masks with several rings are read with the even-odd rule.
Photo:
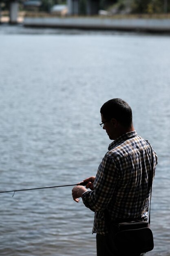
[[170, 31], [170, 19], [24, 18], [25, 26]]

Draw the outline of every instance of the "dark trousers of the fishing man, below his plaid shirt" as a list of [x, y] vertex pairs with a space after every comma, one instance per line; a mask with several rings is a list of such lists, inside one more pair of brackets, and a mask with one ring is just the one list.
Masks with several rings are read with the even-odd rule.
[[[97, 256], [144, 256], [144, 254], [124, 254], [120, 255], [110, 234], [96, 235]], [[124, 245], [122, 245], [124, 246]]]

